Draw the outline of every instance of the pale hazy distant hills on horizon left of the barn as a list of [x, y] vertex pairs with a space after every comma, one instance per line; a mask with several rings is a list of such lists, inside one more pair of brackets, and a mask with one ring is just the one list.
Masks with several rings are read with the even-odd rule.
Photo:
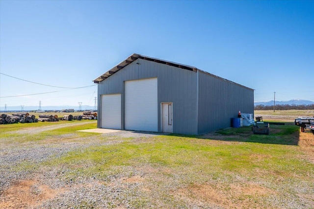
[[[38, 110], [38, 106], [24, 106], [24, 111], [33, 111]], [[70, 106], [70, 105], [63, 105], [63, 106], [42, 106], [41, 110], [63, 110], [63, 109], [74, 109], [78, 110], [78, 106]], [[82, 110], [93, 110], [94, 106], [82, 105]], [[7, 111], [21, 111], [21, 106], [7, 106]], [[0, 111], [4, 111], [4, 107], [0, 107]]]

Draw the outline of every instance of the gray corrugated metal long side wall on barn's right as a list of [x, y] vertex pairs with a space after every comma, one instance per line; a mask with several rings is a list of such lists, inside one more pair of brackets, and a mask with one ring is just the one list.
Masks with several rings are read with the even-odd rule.
[[198, 79], [198, 134], [230, 127], [239, 110], [254, 113], [254, 90], [202, 71]]

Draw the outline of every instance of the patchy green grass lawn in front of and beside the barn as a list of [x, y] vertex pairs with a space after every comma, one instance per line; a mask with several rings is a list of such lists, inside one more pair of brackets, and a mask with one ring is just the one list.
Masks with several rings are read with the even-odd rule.
[[[19, 129], [26, 128], [25, 124], [1, 127], [1, 139], [12, 137], [10, 130], [16, 130], [19, 125], [22, 125]], [[119, 179], [134, 176], [140, 179], [135, 193], [125, 188], [126, 196], [117, 197], [112, 208], [128, 200], [128, 195], [137, 197], [130, 203], [133, 208], [147, 208], [150, 204], [155, 208], [190, 208], [196, 202], [223, 208], [313, 206], [314, 163], [298, 146], [298, 126], [273, 125], [267, 136], [253, 135], [251, 127], [230, 128], [204, 136], [173, 134], [138, 139], [75, 132], [94, 128], [93, 125], [86, 124], [83, 128], [78, 122], [77, 126], [54, 129], [35, 137], [23, 135], [20, 142], [24, 144], [67, 134], [69, 137], [60, 142], [75, 138], [99, 141], [98, 145], [78, 147], [36, 168], [23, 164], [23, 169], [36, 172], [58, 167], [67, 170], [56, 177], [64, 181], [91, 178], [112, 187], [123, 185]], [[38, 126], [44, 125], [34, 125]], [[14, 142], [19, 142], [21, 136], [16, 135]]]

